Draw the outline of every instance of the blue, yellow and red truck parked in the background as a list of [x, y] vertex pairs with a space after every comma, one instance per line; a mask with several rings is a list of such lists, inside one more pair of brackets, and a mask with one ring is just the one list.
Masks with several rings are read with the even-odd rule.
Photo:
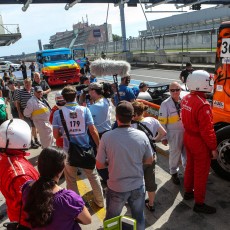
[[72, 59], [69, 48], [41, 50], [36, 52], [36, 59], [50, 86], [79, 83], [80, 66]]

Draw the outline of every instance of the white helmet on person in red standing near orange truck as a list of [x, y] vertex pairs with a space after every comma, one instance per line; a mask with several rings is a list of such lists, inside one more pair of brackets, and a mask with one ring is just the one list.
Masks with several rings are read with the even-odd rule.
[[213, 76], [204, 70], [195, 70], [188, 75], [187, 86], [189, 91], [209, 92], [213, 90]]

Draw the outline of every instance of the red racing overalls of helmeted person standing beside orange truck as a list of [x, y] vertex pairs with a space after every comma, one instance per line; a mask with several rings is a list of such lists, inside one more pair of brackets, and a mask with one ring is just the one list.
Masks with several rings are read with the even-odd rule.
[[211, 106], [204, 93], [192, 92], [182, 99], [181, 119], [185, 129], [184, 145], [187, 153], [185, 192], [194, 190], [195, 203], [203, 204], [211, 151], [217, 148]]

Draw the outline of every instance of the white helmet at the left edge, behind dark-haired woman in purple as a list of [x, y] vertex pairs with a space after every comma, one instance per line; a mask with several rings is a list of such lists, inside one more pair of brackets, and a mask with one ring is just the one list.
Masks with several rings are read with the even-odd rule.
[[29, 149], [31, 129], [21, 119], [11, 119], [0, 126], [0, 148]]

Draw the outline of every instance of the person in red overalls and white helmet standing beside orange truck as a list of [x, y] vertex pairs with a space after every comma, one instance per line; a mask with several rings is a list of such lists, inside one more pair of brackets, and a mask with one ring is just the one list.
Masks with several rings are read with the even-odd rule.
[[190, 94], [181, 102], [187, 153], [184, 199], [195, 199], [194, 212], [212, 214], [216, 208], [204, 203], [211, 159], [216, 159], [218, 155], [212, 110], [206, 100], [206, 93], [213, 90], [212, 75], [204, 70], [193, 71], [188, 76], [187, 86]]

